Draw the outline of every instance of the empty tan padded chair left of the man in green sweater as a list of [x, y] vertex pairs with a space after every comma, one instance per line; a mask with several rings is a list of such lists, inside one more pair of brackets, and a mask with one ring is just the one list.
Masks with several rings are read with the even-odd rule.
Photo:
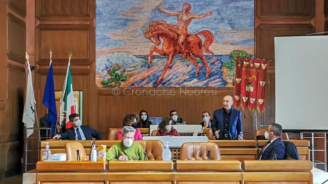
[[88, 160], [83, 145], [78, 141], [66, 143], [65, 150], [67, 161], [77, 161], [77, 150], [79, 150], [79, 156], [81, 161]]

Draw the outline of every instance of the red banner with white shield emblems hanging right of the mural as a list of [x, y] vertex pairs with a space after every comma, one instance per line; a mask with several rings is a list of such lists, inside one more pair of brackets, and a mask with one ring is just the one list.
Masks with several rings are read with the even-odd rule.
[[234, 104], [253, 111], [257, 105], [260, 113], [264, 110], [267, 61], [237, 57]]

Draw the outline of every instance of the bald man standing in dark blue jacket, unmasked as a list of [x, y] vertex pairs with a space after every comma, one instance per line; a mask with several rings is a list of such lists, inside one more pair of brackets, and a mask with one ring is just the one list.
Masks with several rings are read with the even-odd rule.
[[232, 108], [233, 98], [223, 98], [223, 108], [214, 111], [212, 131], [215, 139], [237, 140], [238, 135], [243, 133], [241, 112]]

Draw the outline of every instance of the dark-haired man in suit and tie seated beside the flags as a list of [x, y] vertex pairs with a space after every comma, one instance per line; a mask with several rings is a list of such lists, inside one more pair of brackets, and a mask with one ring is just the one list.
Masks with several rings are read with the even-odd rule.
[[66, 129], [64, 133], [53, 136], [52, 139], [63, 140], [92, 140], [94, 137], [96, 140], [101, 140], [101, 133], [90, 128], [89, 126], [82, 126], [80, 115], [71, 114], [69, 116], [70, 122], [73, 127]]

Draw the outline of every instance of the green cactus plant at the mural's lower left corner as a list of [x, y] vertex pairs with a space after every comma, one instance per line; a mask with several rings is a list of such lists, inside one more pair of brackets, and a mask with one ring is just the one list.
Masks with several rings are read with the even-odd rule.
[[121, 70], [121, 66], [116, 64], [112, 68], [107, 69], [110, 78], [107, 80], [102, 80], [102, 87], [120, 87], [122, 82], [127, 81], [128, 77], [124, 76], [125, 70]]

